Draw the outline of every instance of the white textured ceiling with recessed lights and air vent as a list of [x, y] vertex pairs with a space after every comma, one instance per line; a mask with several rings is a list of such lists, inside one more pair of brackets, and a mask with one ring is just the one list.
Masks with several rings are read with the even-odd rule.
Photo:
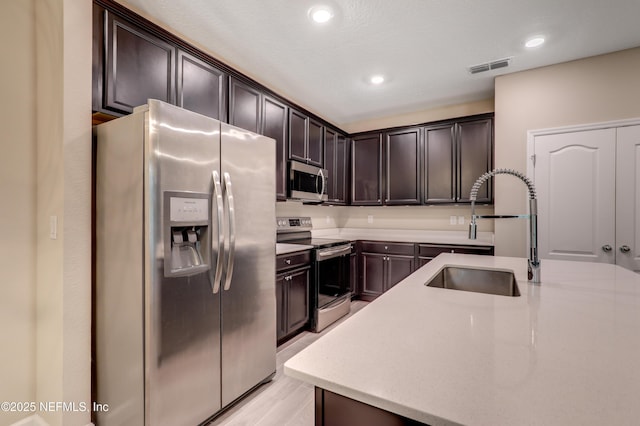
[[[338, 126], [488, 99], [496, 75], [640, 46], [638, 0], [118, 1]], [[312, 24], [316, 4], [335, 18]], [[547, 42], [526, 49], [536, 34]]]

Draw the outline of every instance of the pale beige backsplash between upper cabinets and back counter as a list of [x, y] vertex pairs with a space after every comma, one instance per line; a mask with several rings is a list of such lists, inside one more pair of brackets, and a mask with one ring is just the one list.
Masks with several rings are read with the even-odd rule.
[[[493, 214], [493, 206], [476, 206], [476, 213]], [[377, 228], [466, 231], [471, 217], [469, 205], [459, 206], [324, 206], [287, 201], [276, 203], [277, 216], [310, 216], [315, 229]], [[451, 225], [451, 216], [455, 225]], [[459, 224], [459, 219], [462, 222]], [[478, 222], [478, 230], [493, 232], [493, 221]]]

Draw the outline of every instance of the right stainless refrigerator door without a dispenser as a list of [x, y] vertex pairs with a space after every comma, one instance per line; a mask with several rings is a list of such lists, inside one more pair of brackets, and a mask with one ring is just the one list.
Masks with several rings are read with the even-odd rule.
[[221, 134], [221, 171], [233, 185], [235, 214], [235, 226], [225, 231], [235, 238], [233, 261], [228, 262], [233, 270], [225, 271], [231, 282], [222, 291], [226, 406], [276, 370], [276, 193], [275, 141], [224, 123]]

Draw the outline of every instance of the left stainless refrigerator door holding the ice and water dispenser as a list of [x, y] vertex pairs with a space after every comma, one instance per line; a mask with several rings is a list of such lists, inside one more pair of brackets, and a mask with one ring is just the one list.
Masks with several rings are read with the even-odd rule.
[[[167, 245], [175, 238], [172, 230], [178, 229], [185, 241], [202, 238], [201, 244], [194, 242], [192, 247], [209, 254], [203, 262], [216, 265], [212, 172], [220, 167], [220, 123], [152, 100], [147, 121], [145, 424], [199, 424], [221, 407], [220, 294], [212, 293], [211, 268], [171, 276], [164, 258], [171, 253]], [[190, 196], [195, 204], [189, 204]], [[184, 204], [180, 212], [171, 215], [168, 197]], [[199, 233], [180, 227], [189, 218], [200, 224], [195, 228]]]

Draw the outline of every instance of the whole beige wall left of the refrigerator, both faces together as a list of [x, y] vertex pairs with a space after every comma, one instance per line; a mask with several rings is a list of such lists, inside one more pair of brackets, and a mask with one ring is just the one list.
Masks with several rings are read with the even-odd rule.
[[[85, 0], [0, 2], [1, 401], [91, 399], [91, 17]], [[0, 423], [32, 414], [90, 422]]]

